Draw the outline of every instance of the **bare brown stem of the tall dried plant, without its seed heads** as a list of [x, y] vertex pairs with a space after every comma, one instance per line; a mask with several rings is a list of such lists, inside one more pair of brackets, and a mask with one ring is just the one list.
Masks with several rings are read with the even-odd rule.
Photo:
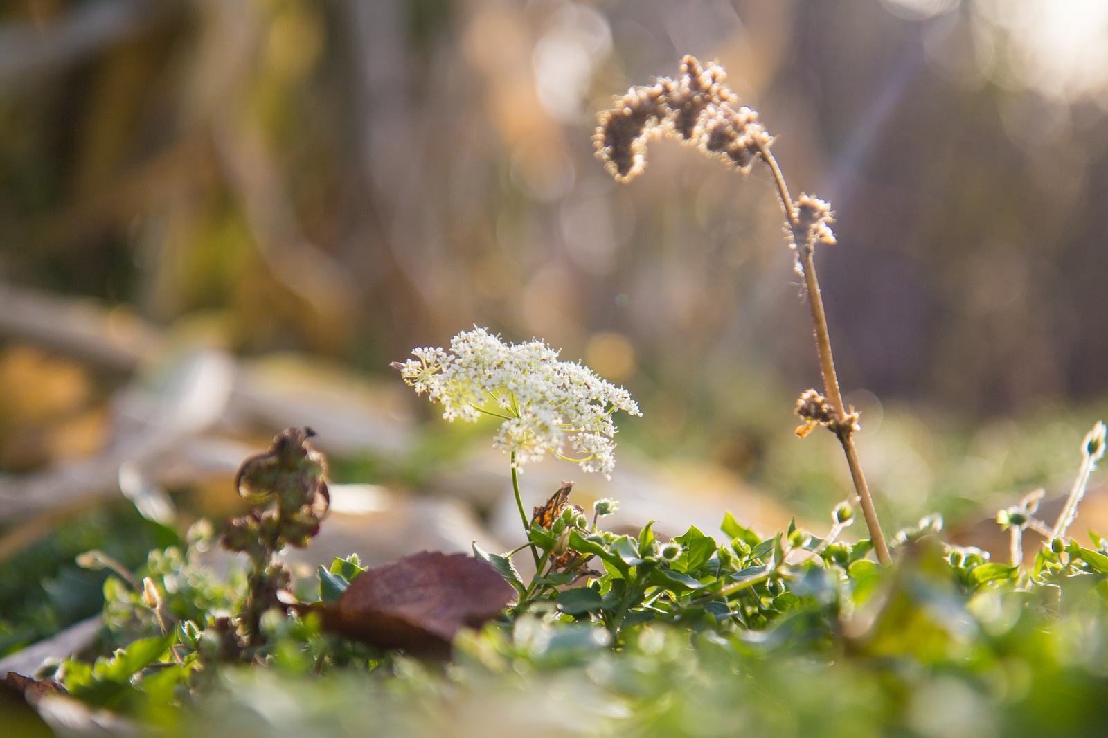
[[[812, 322], [815, 326], [815, 345], [820, 352], [820, 368], [823, 372], [823, 386], [827, 398], [839, 418], [845, 421], [847, 413], [842, 404], [839, 378], [834, 371], [834, 358], [831, 353], [831, 336], [828, 331], [827, 315], [823, 311], [823, 298], [820, 295], [820, 283], [815, 276], [814, 249], [807, 234], [800, 232], [797, 211], [792, 206], [789, 187], [784, 183], [781, 167], [778, 166], [777, 160], [773, 158], [773, 154], [770, 153], [766, 144], [758, 141], [757, 145], [762, 160], [773, 175], [773, 182], [777, 185], [781, 205], [784, 207], [786, 217], [789, 219], [789, 227], [793, 232], [793, 240], [797, 244], [797, 257], [800, 262], [800, 268], [804, 273], [804, 285], [808, 287], [808, 303], [812, 309]], [[878, 554], [878, 561], [882, 564], [890, 564], [892, 563], [892, 557], [889, 555], [889, 546], [885, 543], [884, 534], [881, 532], [881, 523], [878, 521], [878, 512], [873, 508], [873, 498], [870, 495], [870, 488], [865, 483], [865, 474], [862, 472], [862, 462], [858, 458], [858, 449], [854, 448], [852, 423], [839, 423], [835, 435], [839, 437], [842, 451], [847, 457], [850, 475], [854, 481], [854, 491], [858, 492], [858, 498], [862, 503], [862, 513], [865, 515], [865, 524], [870, 529], [870, 537], [873, 540], [873, 549]]]

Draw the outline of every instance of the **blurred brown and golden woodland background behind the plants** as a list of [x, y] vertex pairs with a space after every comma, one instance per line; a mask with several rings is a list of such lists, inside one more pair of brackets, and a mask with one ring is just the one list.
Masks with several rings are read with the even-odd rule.
[[[820, 376], [766, 173], [593, 156], [685, 53], [838, 214], [818, 267], [889, 532], [937, 510], [1003, 561], [988, 519], [1066, 492], [1108, 408], [1100, 0], [4, 0], [0, 654], [96, 612], [76, 553], [235, 512], [285, 426], [338, 483], [305, 566], [511, 547], [492, 427], [388, 368], [474, 324], [644, 411], [611, 483], [545, 462], [531, 504], [566, 478], [617, 526], [825, 530], [849, 473], [792, 434]], [[1108, 522], [1092, 485], [1075, 527]]]

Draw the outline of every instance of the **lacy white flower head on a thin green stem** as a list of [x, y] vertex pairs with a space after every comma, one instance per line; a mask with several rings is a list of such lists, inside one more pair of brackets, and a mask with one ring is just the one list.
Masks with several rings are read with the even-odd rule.
[[392, 366], [418, 393], [443, 406], [443, 418], [504, 419], [493, 444], [512, 453], [516, 465], [538, 461], [547, 450], [563, 455], [568, 447], [584, 457], [577, 460], [583, 470], [609, 475], [612, 414], [642, 414], [627, 390], [579, 363], [558, 361], [557, 351], [542, 341], [505, 344], [476, 328], [454, 336], [449, 352], [421, 348], [412, 356]]

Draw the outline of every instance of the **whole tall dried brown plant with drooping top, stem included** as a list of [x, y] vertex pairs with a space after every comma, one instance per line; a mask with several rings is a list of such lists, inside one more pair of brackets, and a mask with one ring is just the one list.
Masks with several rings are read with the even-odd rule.
[[[594, 136], [597, 156], [616, 181], [628, 182], [645, 168], [646, 144], [650, 137], [674, 136], [742, 172], [748, 172], [756, 158], [761, 158], [769, 167], [784, 208], [789, 245], [796, 253], [798, 271], [804, 277], [823, 372], [825, 397], [814, 390], [807, 391], [798, 411], [809, 421], [809, 429], [820, 424], [838, 437], [873, 547], [881, 563], [888, 564], [892, 561], [889, 547], [854, 445], [858, 414], [842, 402], [815, 276], [815, 246], [835, 243], [831, 206], [806, 194], [792, 199], [781, 167], [770, 152], [772, 139], [758, 122], [758, 113], [739, 105], [738, 96], [724, 84], [725, 80], [726, 73], [718, 64], [701, 64], [694, 57], [685, 57], [678, 79], [660, 78], [653, 85], [632, 88], [616, 100], [612, 110], [601, 113]], [[803, 414], [808, 406], [815, 412]]]

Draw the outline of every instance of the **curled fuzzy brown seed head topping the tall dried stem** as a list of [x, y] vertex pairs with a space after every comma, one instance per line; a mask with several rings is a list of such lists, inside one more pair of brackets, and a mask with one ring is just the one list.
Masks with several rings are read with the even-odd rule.
[[593, 139], [597, 156], [617, 181], [627, 182], [646, 166], [646, 142], [671, 135], [748, 170], [770, 137], [758, 113], [740, 106], [738, 95], [724, 84], [726, 76], [718, 64], [685, 57], [677, 80], [664, 76], [653, 85], [632, 88], [601, 113]]

